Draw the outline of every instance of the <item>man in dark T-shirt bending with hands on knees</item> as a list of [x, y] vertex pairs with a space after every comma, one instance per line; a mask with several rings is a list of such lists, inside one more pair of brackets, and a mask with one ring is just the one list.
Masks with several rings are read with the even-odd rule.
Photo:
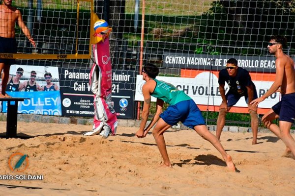
[[[227, 94], [225, 94], [225, 82], [229, 85], [229, 91]], [[216, 137], [220, 139], [221, 131], [225, 125], [227, 112], [241, 97], [245, 97], [245, 101], [248, 104], [248, 111], [251, 116], [251, 128], [253, 132], [252, 145], [257, 144], [257, 106], [250, 104], [253, 99], [257, 98], [257, 91], [250, 74], [247, 70], [237, 67], [237, 60], [231, 58], [226, 63], [226, 69], [219, 72], [218, 83], [222, 102], [219, 107]]]

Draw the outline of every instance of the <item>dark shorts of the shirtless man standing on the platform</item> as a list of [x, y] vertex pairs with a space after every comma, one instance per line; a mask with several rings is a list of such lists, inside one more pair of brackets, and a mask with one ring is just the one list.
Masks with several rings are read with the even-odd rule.
[[[0, 37], [0, 53], [16, 53], [17, 43], [15, 38]], [[0, 63], [8, 65], [15, 64], [15, 59], [11, 58], [0, 58]]]

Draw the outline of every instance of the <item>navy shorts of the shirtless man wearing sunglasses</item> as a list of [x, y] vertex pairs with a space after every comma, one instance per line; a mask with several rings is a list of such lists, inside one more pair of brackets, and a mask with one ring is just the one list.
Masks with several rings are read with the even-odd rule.
[[280, 121], [294, 123], [295, 119], [295, 93], [285, 94], [282, 100], [271, 108], [274, 113], [279, 115]]

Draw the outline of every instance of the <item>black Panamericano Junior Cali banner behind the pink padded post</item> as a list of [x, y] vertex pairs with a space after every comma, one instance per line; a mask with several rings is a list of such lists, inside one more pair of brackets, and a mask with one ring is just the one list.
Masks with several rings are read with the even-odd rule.
[[[93, 117], [94, 95], [90, 91], [88, 69], [59, 69], [63, 116]], [[112, 102], [118, 119], [134, 118], [134, 72], [112, 72]]]

